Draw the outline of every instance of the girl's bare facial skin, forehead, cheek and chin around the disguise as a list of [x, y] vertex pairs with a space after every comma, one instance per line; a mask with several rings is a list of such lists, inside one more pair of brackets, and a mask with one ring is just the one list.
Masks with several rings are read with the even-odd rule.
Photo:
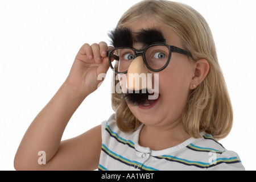
[[[141, 30], [155, 28], [160, 30], [166, 39], [166, 44], [184, 49], [179, 36], [171, 28], [150, 21], [129, 23], [132, 34]], [[142, 44], [133, 44], [135, 49], [143, 49]], [[128, 104], [131, 112], [142, 123], [148, 126], [168, 126], [179, 122], [180, 115], [185, 107], [189, 89], [191, 89], [193, 77], [193, 63], [188, 56], [180, 53], [172, 53], [170, 64], [159, 74], [159, 96], [150, 106], [133, 106]], [[154, 83], [153, 83], [154, 84]]]

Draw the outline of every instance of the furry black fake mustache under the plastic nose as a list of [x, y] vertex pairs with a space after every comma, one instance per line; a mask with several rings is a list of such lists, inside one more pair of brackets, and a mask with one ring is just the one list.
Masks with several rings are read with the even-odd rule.
[[152, 104], [155, 100], [148, 100], [148, 96], [154, 93], [149, 93], [147, 89], [142, 90], [129, 90], [128, 93], [123, 93], [126, 103], [133, 106], [142, 104]]

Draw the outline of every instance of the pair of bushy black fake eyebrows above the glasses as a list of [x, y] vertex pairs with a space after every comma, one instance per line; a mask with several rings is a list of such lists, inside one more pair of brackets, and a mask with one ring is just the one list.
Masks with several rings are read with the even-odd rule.
[[133, 47], [133, 43], [149, 46], [152, 43], [164, 43], [165, 39], [161, 31], [148, 28], [132, 34], [129, 28], [115, 28], [110, 31], [109, 38], [114, 47]]

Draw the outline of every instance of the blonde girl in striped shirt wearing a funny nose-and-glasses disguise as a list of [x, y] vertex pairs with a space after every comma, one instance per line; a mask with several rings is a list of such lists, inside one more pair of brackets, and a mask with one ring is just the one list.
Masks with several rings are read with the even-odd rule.
[[[123, 14], [110, 38], [114, 49], [105, 42], [81, 47], [67, 80], [24, 135], [15, 169], [244, 169], [236, 152], [217, 141], [231, 130], [232, 106], [212, 34], [197, 11], [177, 2], [142, 1]], [[123, 91], [112, 96], [115, 114], [61, 141], [72, 114], [109, 66], [119, 78], [114, 86]], [[152, 75], [146, 88], [123, 79], [136, 73]]]

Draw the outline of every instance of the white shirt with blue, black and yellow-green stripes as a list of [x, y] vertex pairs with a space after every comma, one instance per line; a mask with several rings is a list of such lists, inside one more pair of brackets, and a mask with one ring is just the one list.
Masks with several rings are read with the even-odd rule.
[[141, 125], [133, 133], [118, 129], [114, 115], [102, 122], [99, 170], [245, 170], [236, 152], [227, 151], [211, 135], [190, 138], [154, 151], [139, 145]]

